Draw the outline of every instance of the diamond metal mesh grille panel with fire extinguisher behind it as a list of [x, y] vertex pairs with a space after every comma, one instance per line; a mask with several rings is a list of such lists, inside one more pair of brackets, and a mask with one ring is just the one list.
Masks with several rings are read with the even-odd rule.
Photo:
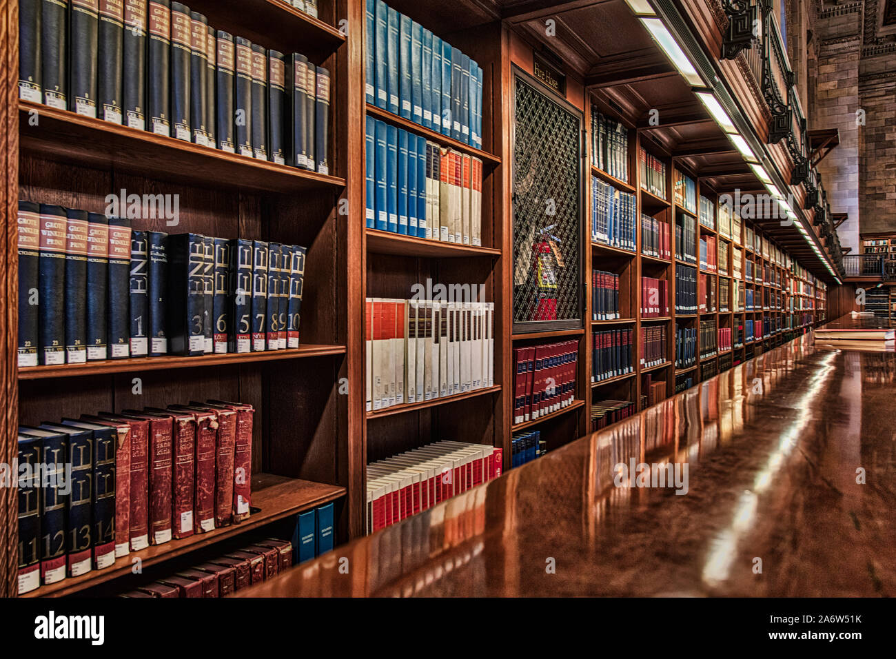
[[513, 322], [581, 320], [582, 118], [515, 82]]

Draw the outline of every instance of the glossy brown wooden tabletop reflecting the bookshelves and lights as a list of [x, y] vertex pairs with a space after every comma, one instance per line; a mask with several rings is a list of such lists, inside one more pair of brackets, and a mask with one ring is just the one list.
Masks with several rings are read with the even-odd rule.
[[242, 594], [896, 595], [896, 353], [806, 335]]

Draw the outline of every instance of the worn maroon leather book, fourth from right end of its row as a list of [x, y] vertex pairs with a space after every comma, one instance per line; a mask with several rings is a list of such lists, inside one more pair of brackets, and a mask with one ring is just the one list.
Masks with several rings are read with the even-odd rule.
[[196, 420], [190, 412], [148, 407], [145, 412], [172, 418], [173, 481], [171, 481], [171, 534], [175, 539], [193, 535]]

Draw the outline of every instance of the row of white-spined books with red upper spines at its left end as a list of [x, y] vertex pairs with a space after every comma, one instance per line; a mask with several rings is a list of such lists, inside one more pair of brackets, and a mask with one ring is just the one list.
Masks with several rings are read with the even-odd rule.
[[495, 303], [366, 299], [366, 409], [495, 385]]

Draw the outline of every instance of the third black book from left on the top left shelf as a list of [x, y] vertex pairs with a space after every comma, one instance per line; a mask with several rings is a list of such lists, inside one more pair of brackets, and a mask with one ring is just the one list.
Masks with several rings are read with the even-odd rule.
[[69, 0], [68, 108], [85, 117], [97, 116], [98, 0]]

